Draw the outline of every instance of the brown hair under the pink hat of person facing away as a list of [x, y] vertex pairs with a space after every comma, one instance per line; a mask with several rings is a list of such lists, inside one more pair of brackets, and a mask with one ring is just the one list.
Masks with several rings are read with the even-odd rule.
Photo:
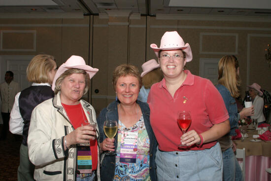
[[160, 82], [163, 77], [163, 72], [160, 68], [157, 68], [151, 72], [146, 73], [142, 78], [142, 83], [146, 89], [150, 89], [152, 84]]

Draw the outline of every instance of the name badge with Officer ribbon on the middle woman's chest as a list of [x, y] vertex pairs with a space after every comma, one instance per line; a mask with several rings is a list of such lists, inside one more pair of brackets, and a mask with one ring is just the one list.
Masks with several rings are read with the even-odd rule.
[[121, 132], [120, 162], [136, 162], [137, 137], [137, 132]]

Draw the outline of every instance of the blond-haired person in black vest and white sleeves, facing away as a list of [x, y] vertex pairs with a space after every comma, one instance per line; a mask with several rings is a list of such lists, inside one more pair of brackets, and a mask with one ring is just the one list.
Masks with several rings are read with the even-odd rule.
[[34, 181], [34, 168], [28, 156], [27, 137], [33, 109], [43, 101], [54, 97], [51, 84], [57, 72], [52, 55], [36, 55], [27, 67], [27, 79], [32, 85], [15, 96], [10, 113], [9, 131], [23, 135], [20, 147], [18, 181]]

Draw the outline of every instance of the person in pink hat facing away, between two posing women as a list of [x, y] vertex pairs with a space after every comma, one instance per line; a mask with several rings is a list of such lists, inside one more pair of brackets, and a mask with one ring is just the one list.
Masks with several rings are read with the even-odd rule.
[[163, 73], [159, 69], [160, 65], [157, 64], [156, 60], [154, 59], [145, 62], [144, 64], [142, 64], [141, 67], [143, 70], [143, 72], [141, 73], [143, 86], [139, 91], [137, 99], [141, 102], [146, 103], [151, 86], [154, 83], [160, 82], [162, 80]]

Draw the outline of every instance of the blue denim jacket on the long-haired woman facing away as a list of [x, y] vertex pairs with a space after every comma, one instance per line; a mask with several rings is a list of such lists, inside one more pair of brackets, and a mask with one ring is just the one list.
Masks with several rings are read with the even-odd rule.
[[236, 104], [235, 98], [231, 96], [230, 91], [224, 85], [217, 84], [216, 88], [221, 94], [230, 116], [229, 121], [231, 125], [231, 130], [230, 130], [229, 135], [236, 136], [235, 129], [237, 129], [240, 115], [238, 114], [238, 111], [237, 111], [237, 104]]

